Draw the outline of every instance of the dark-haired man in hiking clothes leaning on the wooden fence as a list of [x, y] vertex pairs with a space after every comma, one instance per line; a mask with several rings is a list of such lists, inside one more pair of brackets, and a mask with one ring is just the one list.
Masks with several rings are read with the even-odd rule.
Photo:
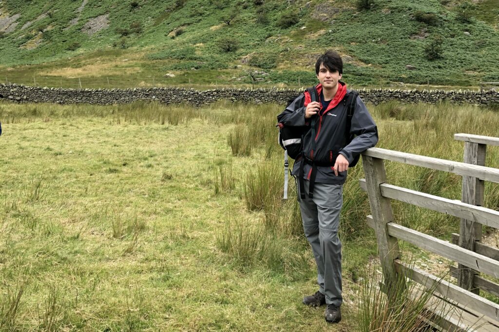
[[[342, 304], [338, 227], [343, 183], [348, 167], [358, 161], [359, 154], [378, 142], [378, 130], [362, 100], [340, 82], [343, 62], [338, 53], [329, 50], [321, 55], [315, 73], [318, 101], [312, 102], [305, 91], [277, 120], [287, 126], [310, 127], [302, 139], [302, 155], [291, 172], [298, 177], [303, 229], [315, 257], [319, 284], [319, 290], [303, 298], [303, 303], [311, 307], [327, 305], [326, 321], [338, 323]], [[349, 102], [354, 111], [351, 116]]]

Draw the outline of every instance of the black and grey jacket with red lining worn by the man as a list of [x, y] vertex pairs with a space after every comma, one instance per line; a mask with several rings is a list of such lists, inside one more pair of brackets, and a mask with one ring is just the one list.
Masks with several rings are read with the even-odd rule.
[[[344, 84], [339, 82], [339, 84]], [[320, 95], [320, 84], [316, 87]], [[315, 137], [312, 138], [312, 131], [308, 130], [303, 137], [303, 155], [296, 159], [292, 175], [299, 174], [300, 164], [305, 160], [305, 179], [310, 178], [312, 166], [310, 161], [317, 165], [315, 182], [343, 184], [346, 180], [346, 171], [334, 175], [333, 166], [336, 157], [341, 153], [351, 164], [356, 156], [361, 152], [373, 147], [378, 142], [378, 129], [371, 114], [360, 97], [357, 96], [354, 113], [351, 118], [350, 134], [354, 138], [349, 142], [347, 127], [347, 105], [346, 100], [350, 90], [347, 90], [345, 97], [335, 107], [320, 110], [315, 119]], [[309, 119], [305, 119], [305, 108], [311, 100], [308, 92], [305, 91], [297, 97], [289, 106], [277, 116], [278, 122], [288, 126], [310, 125]], [[315, 139], [315, 149], [313, 149], [312, 139]]]

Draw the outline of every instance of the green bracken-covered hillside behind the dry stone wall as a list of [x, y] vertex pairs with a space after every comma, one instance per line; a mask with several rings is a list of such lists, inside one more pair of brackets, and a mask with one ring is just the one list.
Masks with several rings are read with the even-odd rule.
[[2, 0], [0, 81], [307, 85], [327, 48], [358, 86], [499, 81], [499, 0], [357, 2]]

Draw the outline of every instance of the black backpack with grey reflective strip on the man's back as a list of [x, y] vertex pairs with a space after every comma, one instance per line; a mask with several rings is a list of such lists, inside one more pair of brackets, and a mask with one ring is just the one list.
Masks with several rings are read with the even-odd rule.
[[[319, 95], [317, 93], [317, 89], [315, 87], [307, 88], [308, 93], [310, 94], [311, 102], [319, 101]], [[356, 92], [350, 91], [347, 95], [347, 123], [345, 133], [348, 135], [347, 137], [347, 145], [354, 138], [353, 134], [350, 134], [350, 127], [352, 125], [352, 117], [355, 112], [355, 102], [357, 100], [358, 94]], [[290, 100], [286, 106], [286, 108], [294, 101], [294, 99]], [[285, 126], [283, 123], [278, 123], [276, 127], [279, 128], [279, 136], [278, 142], [279, 145], [284, 149], [284, 199], [287, 199], [287, 188], [289, 182], [289, 161], [288, 156], [292, 159], [297, 159], [301, 156], [302, 153], [302, 138], [308, 132], [308, 130], [315, 130], [315, 116], [312, 117], [310, 126]], [[349, 168], [357, 165], [359, 161], [360, 155], [356, 156], [352, 163], [348, 166]], [[301, 185], [303, 188], [303, 185]], [[313, 184], [310, 187], [310, 197], [313, 197]], [[300, 193], [303, 197], [305, 193]], [[304, 197], [303, 197], [304, 198]]]

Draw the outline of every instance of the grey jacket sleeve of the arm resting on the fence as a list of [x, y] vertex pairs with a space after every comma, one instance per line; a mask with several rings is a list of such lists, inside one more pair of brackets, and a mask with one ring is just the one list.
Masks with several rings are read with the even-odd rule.
[[349, 163], [352, 163], [354, 158], [361, 152], [378, 143], [378, 127], [374, 123], [364, 102], [359, 97], [357, 97], [355, 111], [352, 116], [350, 134], [354, 134], [356, 137], [350, 144], [339, 151]]

